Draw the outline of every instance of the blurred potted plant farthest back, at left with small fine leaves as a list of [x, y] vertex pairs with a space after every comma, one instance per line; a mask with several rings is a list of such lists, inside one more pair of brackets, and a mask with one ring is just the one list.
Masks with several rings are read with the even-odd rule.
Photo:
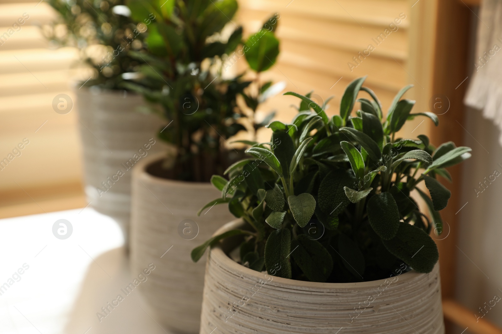
[[[110, 215], [128, 238], [131, 204], [131, 167], [139, 159], [165, 149], [156, 139], [163, 121], [140, 113], [140, 94], [121, 83], [141, 61], [130, 50], [144, 50], [150, 21], [137, 23], [121, 0], [49, 0], [60, 14], [43, 27], [55, 46], [76, 47], [83, 79], [75, 85], [83, 144], [85, 193], [90, 205]], [[86, 76], [84, 76], [86, 74]], [[126, 241], [127, 243], [127, 241]]]

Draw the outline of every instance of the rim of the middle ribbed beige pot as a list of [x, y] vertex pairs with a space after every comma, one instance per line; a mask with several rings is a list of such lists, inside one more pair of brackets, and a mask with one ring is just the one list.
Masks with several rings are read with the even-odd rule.
[[[157, 140], [160, 140], [157, 138]], [[177, 187], [186, 187], [192, 189], [207, 189], [213, 187], [210, 182], [189, 182], [189, 181], [180, 181], [180, 180], [172, 180], [165, 179], [162, 177], [154, 176], [146, 171], [147, 167], [154, 162], [159, 161], [164, 158], [165, 153], [159, 152], [156, 154], [152, 154], [151, 156], [147, 156], [138, 160], [133, 167], [133, 177], [139, 179], [140, 181], [146, 181], [148, 183], [157, 183], [168, 186], [177, 186]]]

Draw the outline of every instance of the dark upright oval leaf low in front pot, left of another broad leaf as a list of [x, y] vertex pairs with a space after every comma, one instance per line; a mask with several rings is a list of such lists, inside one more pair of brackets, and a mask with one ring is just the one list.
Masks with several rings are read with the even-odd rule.
[[274, 230], [265, 244], [265, 267], [273, 276], [291, 278], [291, 232], [287, 228]]

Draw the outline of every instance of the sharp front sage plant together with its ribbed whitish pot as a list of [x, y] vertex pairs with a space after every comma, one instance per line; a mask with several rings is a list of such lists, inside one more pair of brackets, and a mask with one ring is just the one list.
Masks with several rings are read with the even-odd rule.
[[[364, 79], [349, 84], [331, 119], [308, 97], [286, 93], [302, 99], [292, 124], [271, 123], [271, 142], [249, 148], [253, 159], [219, 178], [221, 196], [206, 207], [227, 203], [239, 220], [192, 251], [197, 261], [217, 246], [206, 266], [201, 333], [444, 332], [429, 233], [441, 232], [439, 210], [451, 195], [437, 177], [451, 181], [445, 168], [470, 148], [395, 138], [409, 119], [438, 118], [411, 113], [415, 101], [401, 99], [411, 86], [384, 118]], [[370, 98], [356, 100], [359, 91]], [[356, 101], [361, 110], [351, 116]]]

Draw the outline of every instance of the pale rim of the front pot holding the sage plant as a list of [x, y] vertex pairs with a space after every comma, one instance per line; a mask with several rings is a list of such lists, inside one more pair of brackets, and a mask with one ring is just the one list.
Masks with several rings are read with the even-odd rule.
[[[226, 223], [225, 225], [221, 226], [216, 232], [214, 232], [213, 236], [215, 236], [217, 234], [221, 234], [229, 229], [235, 228], [240, 225], [243, 225], [242, 219], [232, 220], [232, 221]], [[244, 267], [241, 264], [238, 264], [237, 262], [232, 260], [230, 257], [228, 257], [228, 255], [221, 248], [221, 245], [217, 245], [214, 248], [212, 248], [211, 252], [229, 270], [232, 270], [234, 272], [240, 272], [243, 275], [245, 275], [246, 277], [251, 278], [251, 279], [255, 279], [257, 281], [259, 281], [260, 279], [263, 279], [264, 273], [258, 272], [253, 269], [249, 269], [247, 267]], [[436, 270], [438, 266], [439, 266], [439, 261], [434, 266], [433, 271]], [[405, 273], [398, 275], [398, 276], [400, 277], [400, 283], [406, 283], [406, 282], [414, 280], [417, 276], [420, 276], [420, 275], [428, 275], [428, 274], [419, 273], [419, 272], [416, 272], [415, 270], [410, 270], [410, 271], [405, 272]], [[339, 288], [354, 288], [354, 287], [365, 289], [365, 288], [372, 288], [374, 286], [380, 286], [381, 284], [385, 284], [385, 281], [387, 279], [388, 278], [383, 278], [383, 279], [379, 279], [379, 280], [371, 280], [371, 281], [365, 281], [365, 282], [353, 282], [353, 283], [320, 283], [320, 282], [308, 282], [308, 281], [302, 281], [302, 280], [274, 276], [274, 282], [279, 283], [281, 285], [288, 285], [291, 287], [295, 287], [300, 290], [302, 288], [339, 289]]]

